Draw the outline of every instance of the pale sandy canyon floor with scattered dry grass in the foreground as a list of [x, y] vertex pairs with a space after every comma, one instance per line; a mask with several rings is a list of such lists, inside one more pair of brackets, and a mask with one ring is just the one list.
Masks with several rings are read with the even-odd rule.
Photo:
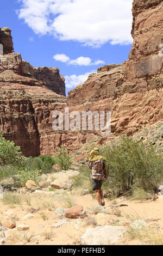
[[[20, 193], [18, 196], [22, 198], [22, 202], [14, 206], [5, 205], [0, 199], [0, 218], [12, 217], [16, 223], [15, 228], [5, 231], [5, 237], [1, 240], [2, 245], [82, 245], [81, 237], [87, 229], [104, 225], [126, 228], [126, 233], [122, 239], [114, 243], [115, 245], [162, 244], [163, 196], [143, 202], [131, 201], [123, 197], [115, 200], [105, 198], [105, 206], [98, 206], [93, 194], [79, 196], [73, 190], [69, 192], [57, 190], [57, 193], [58, 196], [35, 192]], [[76, 205], [83, 205], [87, 217], [67, 218], [63, 212], [56, 211], [59, 208], [66, 208], [65, 196], [71, 198]], [[121, 204], [127, 206], [115, 208]], [[107, 214], [103, 213], [103, 210], [109, 206], [112, 209], [108, 210]], [[36, 212], [30, 214], [32, 208]], [[142, 220], [142, 227], [130, 228], [136, 220]], [[19, 225], [22, 224], [27, 225], [29, 229], [18, 231]], [[56, 227], [52, 228], [55, 224]], [[0, 230], [1, 237], [3, 234]], [[110, 242], [102, 243], [102, 245], [106, 244], [110, 245]]]

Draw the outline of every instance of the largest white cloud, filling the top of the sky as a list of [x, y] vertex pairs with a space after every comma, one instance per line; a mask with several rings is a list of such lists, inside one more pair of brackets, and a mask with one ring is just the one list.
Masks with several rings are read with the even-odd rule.
[[17, 10], [36, 34], [98, 47], [130, 44], [133, 0], [18, 0]]

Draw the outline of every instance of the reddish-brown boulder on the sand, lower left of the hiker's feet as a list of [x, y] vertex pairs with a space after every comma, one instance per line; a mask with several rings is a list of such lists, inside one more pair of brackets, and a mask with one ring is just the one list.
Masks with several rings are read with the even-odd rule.
[[67, 218], [84, 218], [86, 217], [83, 205], [74, 205], [65, 210], [65, 217]]

